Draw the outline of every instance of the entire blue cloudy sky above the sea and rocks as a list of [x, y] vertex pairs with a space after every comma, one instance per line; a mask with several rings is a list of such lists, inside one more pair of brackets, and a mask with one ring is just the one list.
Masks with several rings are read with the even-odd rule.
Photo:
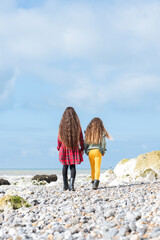
[[0, 168], [61, 168], [68, 106], [114, 138], [103, 169], [160, 150], [159, 23], [156, 0], [1, 0]]

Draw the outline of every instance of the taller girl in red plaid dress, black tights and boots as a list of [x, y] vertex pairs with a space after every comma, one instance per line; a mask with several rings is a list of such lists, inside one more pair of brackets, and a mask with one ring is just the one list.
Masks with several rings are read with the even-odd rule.
[[[59, 161], [62, 163], [63, 190], [74, 190], [76, 164], [83, 161], [84, 141], [80, 120], [73, 107], [67, 107], [63, 113], [58, 132]], [[68, 166], [71, 178], [68, 185]]]

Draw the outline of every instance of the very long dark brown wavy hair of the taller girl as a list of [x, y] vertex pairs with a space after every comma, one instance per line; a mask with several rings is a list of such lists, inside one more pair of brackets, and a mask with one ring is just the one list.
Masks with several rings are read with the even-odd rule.
[[67, 107], [59, 124], [59, 138], [69, 149], [76, 149], [80, 143], [81, 124], [73, 107]]

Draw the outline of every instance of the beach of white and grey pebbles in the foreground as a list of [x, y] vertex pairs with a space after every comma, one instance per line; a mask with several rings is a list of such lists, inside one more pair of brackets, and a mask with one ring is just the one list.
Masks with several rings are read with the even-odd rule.
[[0, 213], [0, 239], [160, 239], [160, 182], [92, 190], [77, 176], [75, 192], [62, 190], [62, 179], [46, 185], [0, 186], [0, 197], [17, 194], [31, 205]]

